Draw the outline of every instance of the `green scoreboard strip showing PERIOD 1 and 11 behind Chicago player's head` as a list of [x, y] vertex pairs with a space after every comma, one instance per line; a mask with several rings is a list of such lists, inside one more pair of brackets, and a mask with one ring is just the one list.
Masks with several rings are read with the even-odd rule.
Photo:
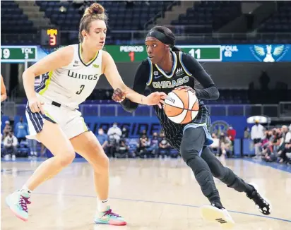
[[[220, 45], [187, 45], [177, 46], [183, 52], [191, 54], [197, 61], [222, 61]], [[144, 45], [136, 46], [105, 46], [105, 50], [111, 54], [116, 62], [141, 62], [147, 58]]]

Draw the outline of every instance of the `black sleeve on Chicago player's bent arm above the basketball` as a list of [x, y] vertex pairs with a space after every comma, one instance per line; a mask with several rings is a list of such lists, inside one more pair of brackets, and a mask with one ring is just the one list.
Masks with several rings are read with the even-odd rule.
[[203, 90], [196, 89], [196, 96], [199, 99], [218, 99], [219, 92], [218, 88], [213, 83], [213, 80], [210, 78], [210, 75], [206, 73], [205, 69], [201, 66], [201, 64], [194, 59], [190, 54], [183, 53], [182, 62], [186, 67], [187, 71], [189, 71], [196, 80], [204, 87]]

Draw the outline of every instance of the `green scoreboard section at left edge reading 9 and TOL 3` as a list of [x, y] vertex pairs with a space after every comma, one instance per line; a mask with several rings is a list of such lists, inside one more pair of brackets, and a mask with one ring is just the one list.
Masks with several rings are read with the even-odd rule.
[[1, 62], [37, 61], [36, 46], [1, 46]]

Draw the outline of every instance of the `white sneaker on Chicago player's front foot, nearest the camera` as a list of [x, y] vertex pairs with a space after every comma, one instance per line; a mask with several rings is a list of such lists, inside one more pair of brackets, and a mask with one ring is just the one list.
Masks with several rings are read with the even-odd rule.
[[215, 205], [203, 205], [200, 209], [201, 216], [208, 222], [219, 223], [223, 229], [232, 229], [234, 226], [234, 220], [225, 208], [219, 209]]

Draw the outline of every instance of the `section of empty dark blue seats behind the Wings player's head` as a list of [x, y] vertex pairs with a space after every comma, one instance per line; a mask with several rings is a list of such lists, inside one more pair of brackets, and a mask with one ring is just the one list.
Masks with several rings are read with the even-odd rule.
[[[89, 6], [94, 1], [86, 1]], [[126, 1], [98, 1], [105, 7], [109, 16], [109, 30], [143, 30], [143, 25], [153, 18], [158, 12], [164, 10], [173, 1], [134, 1], [133, 5], [126, 4]], [[52, 23], [59, 25], [61, 30], [78, 30], [78, 25], [83, 15], [84, 7], [72, 1], [36, 1], [40, 10], [45, 12]], [[64, 6], [66, 11], [60, 13], [59, 8]], [[134, 13], [132, 13], [134, 12]], [[111, 33], [107, 44], [116, 40], [130, 40], [131, 34], [127, 32]], [[78, 42], [74, 37], [71, 43]]]

